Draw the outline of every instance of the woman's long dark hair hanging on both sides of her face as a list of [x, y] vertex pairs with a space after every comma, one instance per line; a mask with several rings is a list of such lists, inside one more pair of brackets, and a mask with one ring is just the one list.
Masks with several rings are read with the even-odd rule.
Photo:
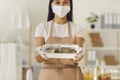
[[[47, 19], [47, 21], [50, 21], [50, 20], [52, 20], [53, 18], [54, 18], [54, 13], [53, 13], [53, 11], [52, 11], [52, 7], [51, 7], [51, 4], [52, 4], [52, 2], [53, 2], [53, 0], [50, 0], [50, 2], [49, 2], [49, 10], [48, 10], [48, 19]], [[72, 0], [70, 0], [70, 12], [67, 14], [67, 19], [69, 20], [69, 21], [72, 21], [72, 18], [73, 18], [73, 13], [72, 13], [72, 11], [73, 11], [73, 3], [72, 3]]]

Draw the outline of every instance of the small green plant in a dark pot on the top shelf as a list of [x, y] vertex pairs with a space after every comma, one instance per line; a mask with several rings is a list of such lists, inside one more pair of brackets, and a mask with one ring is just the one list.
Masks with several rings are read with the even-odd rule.
[[95, 13], [91, 13], [91, 16], [86, 18], [87, 22], [90, 24], [91, 28], [95, 28], [95, 23], [98, 22], [99, 16]]

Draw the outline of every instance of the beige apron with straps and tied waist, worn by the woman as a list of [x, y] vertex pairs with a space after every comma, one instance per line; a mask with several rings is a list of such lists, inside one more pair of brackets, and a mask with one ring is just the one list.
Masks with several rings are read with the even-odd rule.
[[[71, 35], [70, 23], [68, 23], [69, 37], [53, 37], [53, 24], [51, 24], [49, 44], [75, 44]], [[39, 80], [83, 80], [81, 69], [72, 59], [49, 59], [43, 62]]]

